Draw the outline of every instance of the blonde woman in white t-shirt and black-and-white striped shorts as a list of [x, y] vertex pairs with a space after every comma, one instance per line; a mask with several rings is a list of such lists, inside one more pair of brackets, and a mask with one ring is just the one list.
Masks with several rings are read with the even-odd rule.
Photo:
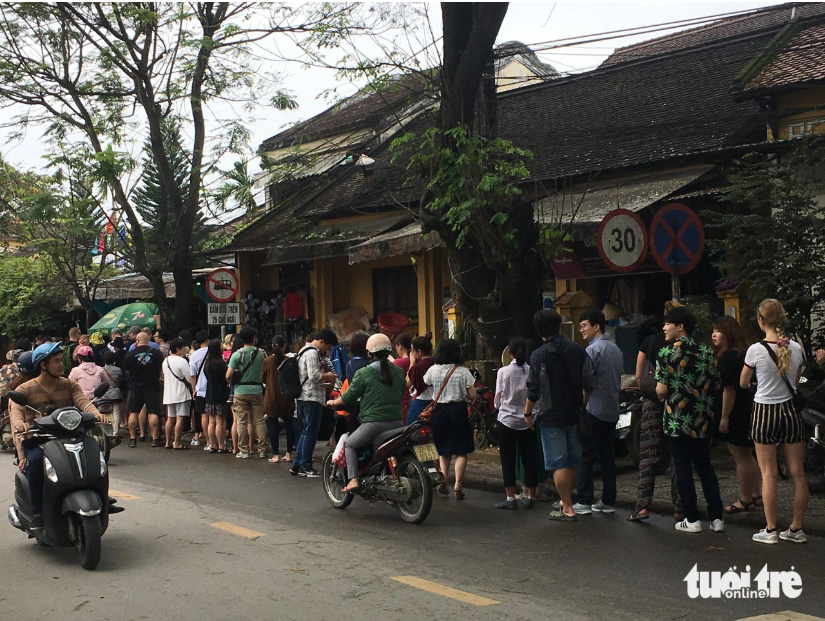
[[[802, 375], [802, 348], [785, 336], [782, 325], [787, 315], [777, 300], [763, 300], [756, 315], [765, 340], [755, 343], [745, 354], [740, 384], [749, 388], [756, 374], [751, 438], [762, 471], [762, 496], [767, 526], [753, 536], [759, 543], [780, 539], [804, 543], [802, 520], [808, 508], [808, 480], [802, 464], [804, 433], [802, 416], [793, 405], [793, 392]], [[785, 446], [785, 463], [794, 485], [794, 516], [788, 530], [776, 528], [776, 445]]]

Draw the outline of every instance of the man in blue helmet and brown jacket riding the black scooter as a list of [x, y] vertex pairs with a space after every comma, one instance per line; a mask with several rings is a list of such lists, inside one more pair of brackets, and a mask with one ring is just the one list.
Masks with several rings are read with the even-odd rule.
[[[47, 407], [62, 408], [75, 406], [79, 410], [95, 415], [98, 422], [105, 423], [106, 417], [98, 412], [83, 390], [72, 380], [63, 377], [63, 349], [60, 343], [44, 343], [34, 350], [32, 362], [39, 375], [20, 385], [17, 390], [28, 397], [29, 406], [44, 412]], [[32, 410], [12, 403], [12, 429], [24, 433], [31, 429], [31, 421], [37, 418]], [[31, 494], [33, 528], [43, 528], [43, 447], [25, 449], [25, 457], [20, 459], [20, 470], [26, 472]]]

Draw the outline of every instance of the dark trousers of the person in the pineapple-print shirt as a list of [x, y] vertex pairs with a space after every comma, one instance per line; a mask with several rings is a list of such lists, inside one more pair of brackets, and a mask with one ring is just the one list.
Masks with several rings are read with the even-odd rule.
[[708, 517], [711, 521], [721, 520], [724, 509], [719, 495], [719, 480], [710, 463], [710, 438], [668, 438], [668, 443], [676, 469], [676, 489], [685, 509], [685, 517], [691, 522], [699, 519], [696, 486], [693, 484], [693, 470], [696, 469], [708, 503]]

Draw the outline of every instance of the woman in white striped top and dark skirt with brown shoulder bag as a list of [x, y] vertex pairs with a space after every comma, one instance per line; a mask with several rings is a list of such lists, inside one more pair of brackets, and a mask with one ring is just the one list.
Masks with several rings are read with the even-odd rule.
[[462, 364], [461, 345], [455, 339], [446, 339], [438, 346], [435, 364], [424, 374], [424, 383], [433, 387], [435, 407], [431, 427], [445, 481], [438, 486], [438, 492], [449, 495], [446, 481], [449, 480], [450, 462], [455, 455], [456, 500], [464, 500], [461, 483], [467, 468], [467, 455], [475, 450], [467, 414], [467, 401], [476, 400], [476, 389], [473, 388], [475, 378]]

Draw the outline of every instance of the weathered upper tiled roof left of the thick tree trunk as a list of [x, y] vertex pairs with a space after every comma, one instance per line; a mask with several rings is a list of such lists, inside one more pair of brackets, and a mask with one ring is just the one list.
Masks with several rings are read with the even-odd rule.
[[264, 140], [262, 152], [338, 136], [362, 128], [380, 132], [395, 122], [393, 114], [426, 96], [432, 78], [410, 74], [394, 78], [380, 92], [371, 87], [349, 97], [307, 121]]

